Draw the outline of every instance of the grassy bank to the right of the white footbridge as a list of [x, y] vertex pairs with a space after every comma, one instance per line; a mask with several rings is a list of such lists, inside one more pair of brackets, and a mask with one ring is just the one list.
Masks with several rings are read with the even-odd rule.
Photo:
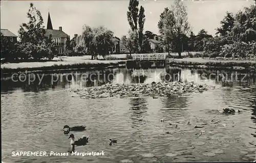
[[167, 64], [179, 67], [193, 68], [223, 68], [255, 71], [256, 63], [253, 60], [211, 60], [202, 58], [168, 59]]

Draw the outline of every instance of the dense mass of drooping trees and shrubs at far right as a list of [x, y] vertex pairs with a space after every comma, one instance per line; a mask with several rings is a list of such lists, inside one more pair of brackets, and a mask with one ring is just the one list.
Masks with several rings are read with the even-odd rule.
[[[217, 29], [220, 37], [209, 39], [204, 47], [204, 52], [215, 53], [221, 57], [255, 57], [255, 5], [245, 7], [243, 11], [227, 15], [221, 21], [221, 27]], [[219, 51], [212, 49], [218, 44]]]

